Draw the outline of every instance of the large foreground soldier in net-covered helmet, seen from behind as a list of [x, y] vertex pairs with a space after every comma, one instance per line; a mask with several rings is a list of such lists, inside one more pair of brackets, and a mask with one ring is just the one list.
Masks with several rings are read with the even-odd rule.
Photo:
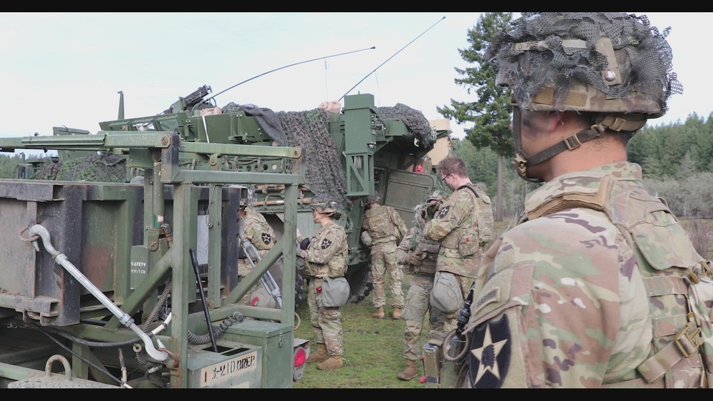
[[667, 31], [634, 14], [522, 14], [486, 59], [512, 88], [515, 166], [544, 184], [478, 271], [465, 385], [705, 386], [687, 290], [705, 261], [627, 161], [682, 92]]

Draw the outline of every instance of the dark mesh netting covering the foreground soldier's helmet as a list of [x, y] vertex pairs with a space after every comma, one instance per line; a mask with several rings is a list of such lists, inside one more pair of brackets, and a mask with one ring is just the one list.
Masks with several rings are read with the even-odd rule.
[[[637, 91], [667, 109], [670, 95], [683, 92], [672, 72], [672, 52], [663, 33], [649, 26], [646, 16], [624, 13], [522, 13], [510, 31], [493, 36], [485, 57], [499, 76], [514, 86], [517, 103], [530, 106], [530, 99], [544, 87], [556, 88], [555, 108], [567, 98], [574, 81], [588, 84], [611, 98], [629, 98]], [[621, 84], [605, 79], [607, 56], [597, 51], [601, 36], [612, 40]], [[585, 46], [563, 42], [585, 41]], [[517, 46], [514, 46], [517, 45]], [[606, 71], [609, 73], [610, 71]]]

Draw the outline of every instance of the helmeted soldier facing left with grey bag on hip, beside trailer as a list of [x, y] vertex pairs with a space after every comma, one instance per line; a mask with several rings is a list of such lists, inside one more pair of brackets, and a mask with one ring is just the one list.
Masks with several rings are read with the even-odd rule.
[[[347, 236], [344, 228], [335, 222], [341, 217], [335, 199], [318, 194], [310, 205], [313, 220], [320, 227], [309, 239], [306, 250], [297, 247], [297, 255], [305, 260], [304, 275], [310, 280], [307, 303], [317, 344], [317, 350], [310, 353], [307, 362], [321, 362], [317, 365], [319, 370], [337, 369], [343, 365], [344, 354], [341, 313], [339, 308], [322, 306], [321, 293], [325, 277], [343, 277], [347, 272]], [[297, 243], [303, 240], [298, 228]]]

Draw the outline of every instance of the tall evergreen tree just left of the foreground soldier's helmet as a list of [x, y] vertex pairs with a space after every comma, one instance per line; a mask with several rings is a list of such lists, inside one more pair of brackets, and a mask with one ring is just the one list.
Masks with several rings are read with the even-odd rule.
[[455, 68], [462, 78], [455, 83], [464, 86], [468, 95], [475, 91], [475, 101], [450, 99], [450, 107], [437, 107], [445, 118], [455, 118], [457, 123], [472, 123], [465, 128], [465, 137], [476, 148], [490, 147], [497, 153], [497, 196], [495, 220], [502, 220], [502, 158], [513, 156], [510, 132], [510, 88], [495, 85], [495, 71], [485, 59], [490, 38], [501, 29], [507, 29], [512, 13], [482, 13], [473, 29], [467, 31], [470, 47], [458, 49], [463, 60], [472, 64], [465, 69]]

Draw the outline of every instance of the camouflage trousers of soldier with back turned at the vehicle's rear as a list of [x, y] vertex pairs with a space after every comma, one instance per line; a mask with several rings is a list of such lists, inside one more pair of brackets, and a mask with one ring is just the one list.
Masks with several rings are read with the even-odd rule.
[[396, 262], [396, 243], [371, 245], [371, 282], [374, 285], [373, 304], [376, 308], [386, 304], [385, 275], [389, 274], [391, 307], [403, 308], [403, 267]]

